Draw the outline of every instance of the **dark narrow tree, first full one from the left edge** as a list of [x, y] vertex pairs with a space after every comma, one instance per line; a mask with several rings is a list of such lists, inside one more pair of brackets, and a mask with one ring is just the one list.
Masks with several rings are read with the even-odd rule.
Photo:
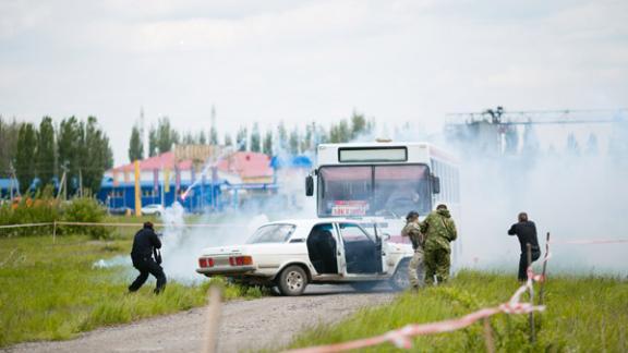
[[20, 192], [26, 193], [36, 176], [35, 157], [37, 153], [37, 133], [32, 123], [20, 126], [17, 154], [15, 155], [15, 174], [20, 182]]

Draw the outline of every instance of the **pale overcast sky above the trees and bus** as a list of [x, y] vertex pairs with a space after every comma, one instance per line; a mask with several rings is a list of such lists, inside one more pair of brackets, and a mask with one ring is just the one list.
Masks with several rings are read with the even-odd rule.
[[628, 106], [627, 1], [0, 0], [0, 114], [222, 135], [348, 118]]

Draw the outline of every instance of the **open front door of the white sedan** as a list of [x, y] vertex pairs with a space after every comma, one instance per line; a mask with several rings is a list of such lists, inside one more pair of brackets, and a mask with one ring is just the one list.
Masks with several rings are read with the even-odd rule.
[[374, 275], [382, 272], [382, 244], [371, 238], [360, 226], [339, 222], [347, 275]]

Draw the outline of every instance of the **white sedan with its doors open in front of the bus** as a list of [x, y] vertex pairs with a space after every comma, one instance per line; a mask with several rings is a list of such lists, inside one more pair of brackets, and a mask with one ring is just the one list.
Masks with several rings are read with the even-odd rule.
[[411, 245], [376, 235], [373, 224], [355, 219], [266, 223], [246, 244], [203, 249], [196, 271], [277, 285], [283, 295], [300, 295], [309, 283], [349, 283], [367, 290], [388, 281], [394, 289], [406, 289]]

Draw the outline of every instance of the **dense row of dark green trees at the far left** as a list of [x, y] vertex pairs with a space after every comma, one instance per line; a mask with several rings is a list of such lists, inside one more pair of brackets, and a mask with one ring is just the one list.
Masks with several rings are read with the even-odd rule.
[[65, 172], [67, 193], [98, 192], [104, 172], [113, 166], [109, 137], [95, 117], [70, 117], [56, 125], [50, 117], [39, 124], [0, 117], [0, 170], [16, 176], [20, 192], [55, 185]]

